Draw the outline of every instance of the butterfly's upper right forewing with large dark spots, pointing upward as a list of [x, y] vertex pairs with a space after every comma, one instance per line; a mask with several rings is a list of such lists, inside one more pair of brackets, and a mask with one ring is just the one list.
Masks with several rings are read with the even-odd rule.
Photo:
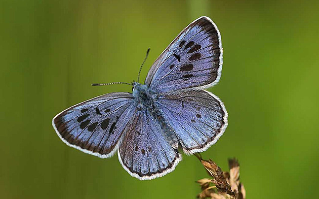
[[145, 84], [156, 92], [212, 86], [221, 76], [220, 32], [208, 17], [189, 24], [156, 59]]

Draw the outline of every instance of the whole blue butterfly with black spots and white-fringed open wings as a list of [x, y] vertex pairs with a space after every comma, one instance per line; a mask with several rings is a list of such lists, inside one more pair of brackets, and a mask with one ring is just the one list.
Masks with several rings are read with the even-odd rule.
[[225, 106], [204, 90], [217, 84], [222, 63], [220, 32], [209, 17], [200, 17], [155, 60], [144, 84], [130, 84], [132, 93], [79, 103], [56, 115], [52, 125], [68, 146], [101, 158], [117, 152], [133, 177], [164, 176], [182, 160], [178, 149], [203, 152], [223, 135]]

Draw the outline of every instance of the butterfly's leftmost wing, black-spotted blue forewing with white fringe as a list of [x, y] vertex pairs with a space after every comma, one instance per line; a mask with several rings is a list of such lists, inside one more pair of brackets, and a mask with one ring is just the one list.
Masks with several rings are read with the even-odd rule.
[[62, 111], [52, 125], [68, 146], [107, 158], [116, 152], [134, 110], [131, 93], [108, 93]]

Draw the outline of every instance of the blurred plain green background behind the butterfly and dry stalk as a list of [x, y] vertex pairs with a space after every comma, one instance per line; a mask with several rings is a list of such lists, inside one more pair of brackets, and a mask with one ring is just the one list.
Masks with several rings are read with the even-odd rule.
[[314, 198], [319, 178], [317, 1], [1, 1], [1, 198], [195, 198], [208, 177], [194, 156], [151, 181], [117, 157], [66, 146], [51, 126], [71, 105], [136, 80], [179, 32], [206, 15], [224, 47], [229, 125], [202, 155], [241, 163], [247, 198]]

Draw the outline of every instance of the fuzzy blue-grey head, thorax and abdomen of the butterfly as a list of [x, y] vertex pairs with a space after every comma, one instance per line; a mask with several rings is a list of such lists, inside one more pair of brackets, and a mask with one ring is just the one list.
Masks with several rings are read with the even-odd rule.
[[161, 129], [163, 130], [162, 134], [170, 145], [175, 149], [178, 148], [178, 140], [175, 132], [164, 118], [162, 111], [157, 106], [158, 93], [151, 90], [147, 85], [134, 82], [133, 96], [136, 103], [136, 109], [138, 111], [148, 112], [154, 121], [161, 126]]

